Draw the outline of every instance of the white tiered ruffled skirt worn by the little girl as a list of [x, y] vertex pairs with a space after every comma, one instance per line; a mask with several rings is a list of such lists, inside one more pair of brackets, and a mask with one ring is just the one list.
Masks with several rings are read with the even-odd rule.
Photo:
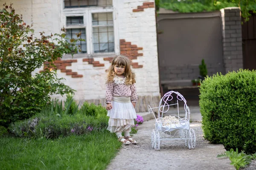
[[[117, 102], [118, 101], [118, 102]], [[136, 111], [131, 103], [131, 97], [114, 96], [112, 109], [108, 111], [108, 128], [111, 133], [129, 131], [137, 119]]]

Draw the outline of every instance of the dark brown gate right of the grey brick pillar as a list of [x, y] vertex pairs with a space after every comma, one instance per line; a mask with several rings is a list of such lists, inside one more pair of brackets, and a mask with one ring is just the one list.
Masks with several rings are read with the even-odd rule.
[[256, 14], [242, 24], [243, 68], [256, 70]]

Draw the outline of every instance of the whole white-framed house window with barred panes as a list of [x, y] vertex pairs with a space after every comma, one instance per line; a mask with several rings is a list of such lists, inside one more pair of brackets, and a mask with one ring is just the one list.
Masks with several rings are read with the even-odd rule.
[[[81, 32], [81, 39], [86, 40], [78, 42], [81, 52], [74, 57], [119, 54], [119, 37], [117, 32], [115, 33], [115, 30], [118, 30], [117, 21], [113, 19], [116, 11], [113, 9], [112, 0], [64, 0], [63, 2], [64, 16], [61, 20], [67, 30], [66, 36], [70, 39], [75, 38], [76, 33]], [[73, 8], [75, 6], [77, 8]]]

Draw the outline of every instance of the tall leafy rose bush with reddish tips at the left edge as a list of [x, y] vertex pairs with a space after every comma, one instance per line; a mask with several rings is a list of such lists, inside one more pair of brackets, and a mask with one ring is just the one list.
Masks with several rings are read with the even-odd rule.
[[[52, 64], [63, 54], [77, 51], [76, 41], [64, 40], [61, 34], [34, 36], [22, 16], [15, 14], [12, 4], [0, 10], [0, 125], [25, 119], [41, 110], [52, 94], [73, 93], [73, 89], [57, 78]], [[77, 37], [80, 35], [78, 34]], [[32, 71], [49, 62], [49, 68], [32, 76]]]

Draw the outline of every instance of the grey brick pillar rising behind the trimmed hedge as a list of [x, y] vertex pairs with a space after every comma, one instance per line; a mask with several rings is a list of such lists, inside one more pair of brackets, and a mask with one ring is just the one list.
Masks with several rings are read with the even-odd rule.
[[223, 61], [226, 73], [243, 68], [241, 13], [237, 7], [221, 9]]

